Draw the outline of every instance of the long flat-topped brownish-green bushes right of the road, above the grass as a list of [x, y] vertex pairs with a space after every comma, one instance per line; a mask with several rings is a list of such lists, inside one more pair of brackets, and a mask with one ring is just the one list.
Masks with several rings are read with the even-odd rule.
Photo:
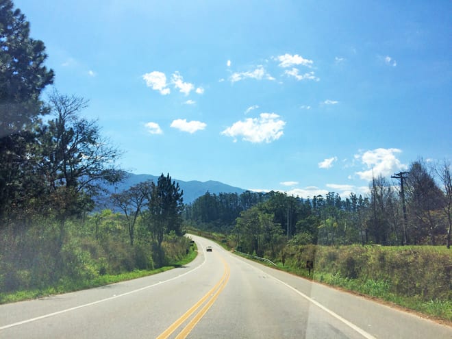
[[288, 245], [284, 253], [286, 266], [294, 272], [307, 275], [306, 260], [314, 258], [318, 277], [360, 281], [360, 290], [372, 295], [452, 300], [452, 255], [445, 247]]

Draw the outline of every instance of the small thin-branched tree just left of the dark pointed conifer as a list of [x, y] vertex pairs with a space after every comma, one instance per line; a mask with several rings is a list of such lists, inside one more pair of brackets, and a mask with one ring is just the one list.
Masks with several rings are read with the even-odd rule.
[[151, 197], [152, 181], [147, 180], [131, 186], [121, 193], [112, 194], [113, 203], [121, 208], [127, 220], [127, 230], [129, 231], [130, 245], [134, 246], [135, 224], [142, 208], [146, 205], [147, 199]]

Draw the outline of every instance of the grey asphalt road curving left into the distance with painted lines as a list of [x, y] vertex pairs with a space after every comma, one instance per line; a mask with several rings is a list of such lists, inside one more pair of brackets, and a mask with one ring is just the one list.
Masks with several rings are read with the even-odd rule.
[[185, 267], [0, 305], [0, 338], [452, 338], [451, 327], [192, 238], [199, 255]]

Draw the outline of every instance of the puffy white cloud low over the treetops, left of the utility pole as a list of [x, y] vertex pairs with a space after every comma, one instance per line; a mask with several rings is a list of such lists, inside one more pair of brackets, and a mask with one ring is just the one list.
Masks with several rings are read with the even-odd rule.
[[382, 175], [388, 177], [397, 171], [407, 169], [407, 165], [402, 164], [396, 158], [400, 149], [373, 149], [364, 153], [356, 154], [355, 159], [366, 165], [367, 171], [355, 172], [361, 179], [371, 181], [373, 177]]

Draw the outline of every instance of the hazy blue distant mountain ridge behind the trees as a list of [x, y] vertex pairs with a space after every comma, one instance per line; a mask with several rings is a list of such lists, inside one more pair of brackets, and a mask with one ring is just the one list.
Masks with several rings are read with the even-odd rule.
[[[152, 180], [157, 184], [159, 176], [155, 175], [149, 175], [149, 174], [134, 174], [134, 173], [127, 173], [127, 178], [119, 183], [116, 184], [114, 187], [108, 188], [111, 192], [122, 192], [123, 190], [127, 190], [127, 188], [134, 186], [142, 181], [146, 180]], [[220, 181], [197, 181], [197, 180], [191, 180], [191, 181], [183, 181], [179, 179], [172, 178], [173, 181], [176, 181], [179, 183], [179, 186], [181, 190], [184, 190], [184, 203], [192, 203], [194, 200], [196, 200], [198, 197], [201, 197], [201, 195], [205, 194], [205, 192], [210, 192], [212, 194], [218, 194], [218, 193], [237, 193], [240, 194], [244, 192], [242, 188], [229, 186], [227, 184], [223, 184]]]

